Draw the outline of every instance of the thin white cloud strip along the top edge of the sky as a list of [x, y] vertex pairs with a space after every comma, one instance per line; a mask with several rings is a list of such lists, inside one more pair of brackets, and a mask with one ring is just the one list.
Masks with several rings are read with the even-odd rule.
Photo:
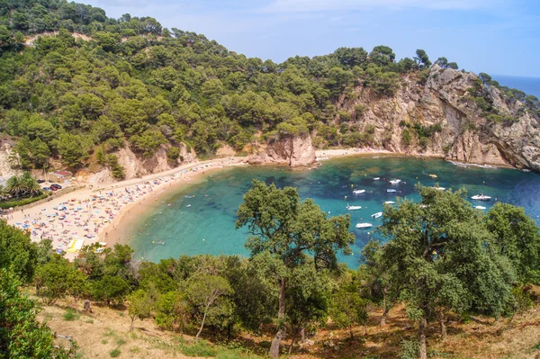
[[471, 10], [491, 7], [498, 0], [274, 0], [262, 8], [264, 13], [311, 13], [336, 10], [387, 8], [425, 8], [433, 10]]

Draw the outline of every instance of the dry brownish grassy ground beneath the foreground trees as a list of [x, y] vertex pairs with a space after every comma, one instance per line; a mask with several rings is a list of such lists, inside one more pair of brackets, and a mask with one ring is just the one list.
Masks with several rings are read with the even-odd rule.
[[[187, 358], [177, 345], [182, 336], [158, 329], [152, 320], [136, 321], [135, 330], [130, 333], [130, 319], [125, 313], [121, 315], [119, 310], [94, 305], [94, 313], [80, 314], [78, 319], [67, 321], [65, 308], [69, 304], [44, 306], [40, 319], [47, 321], [58, 334], [74, 337], [78, 358], [110, 358], [118, 354], [115, 351], [120, 351], [115, 356], [118, 358]], [[407, 319], [403, 307], [391, 311], [384, 328], [378, 326], [381, 314], [372, 312], [366, 327], [355, 328], [354, 341], [349, 340], [348, 330], [329, 324], [310, 337], [314, 342], [311, 346], [295, 346], [292, 358], [398, 358], [401, 341], [416, 337], [415, 325]], [[239, 340], [254, 351], [264, 353], [270, 346], [272, 332], [262, 337], [245, 335]], [[286, 349], [289, 344], [284, 342]], [[474, 317], [469, 323], [452, 322], [446, 342], [440, 341], [438, 327], [431, 323], [428, 348], [432, 358], [441, 359], [540, 359], [540, 307], [515, 317], [511, 323], [509, 319], [481, 317]]]

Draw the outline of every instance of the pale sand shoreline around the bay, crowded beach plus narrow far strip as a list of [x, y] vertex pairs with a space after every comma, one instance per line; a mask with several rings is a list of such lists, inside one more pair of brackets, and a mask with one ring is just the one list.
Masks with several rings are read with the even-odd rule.
[[[407, 155], [372, 148], [320, 149], [315, 151], [315, 154], [314, 165], [320, 165], [326, 159], [338, 157], [416, 157], [444, 159], [455, 166], [518, 169], [514, 166], [477, 165], [451, 161], [444, 157]], [[31, 232], [32, 241], [40, 241], [44, 238], [53, 239], [53, 248], [67, 251], [65, 256], [73, 259], [76, 257], [76, 248], [83, 246], [83, 243], [86, 246], [104, 242], [107, 247], [112, 247], [116, 243], [129, 243], [132, 224], [165, 193], [170, 193], [171, 189], [178, 190], [187, 184], [198, 184], [217, 169], [247, 166], [245, 160], [246, 157], [215, 158], [117, 183], [86, 184], [84, 188], [63, 194], [53, 201], [41, 203], [31, 209], [16, 210], [10, 214], [11, 218], [7, 222]], [[310, 166], [304, 168], [310, 168]], [[54, 213], [51, 214], [50, 211]], [[70, 215], [72, 217], [69, 217]], [[49, 224], [44, 220], [48, 220]], [[90, 221], [94, 222], [94, 226]], [[73, 228], [74, 224], [75, 228]]]

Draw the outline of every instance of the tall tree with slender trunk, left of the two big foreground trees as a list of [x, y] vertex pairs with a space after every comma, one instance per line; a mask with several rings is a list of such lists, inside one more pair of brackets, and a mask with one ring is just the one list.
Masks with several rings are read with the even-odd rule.
[[354, 235], [349, 233], [350, 217], [328, 218], [312, 200], [300, 201], [296, 189], [278, 189], [253, 180], [252, 188], [244, 195], [238, 208], [237, 229], [247, 227], [252, 237], [246, 247], [252, 256], [266, 254], [268, 273], [275, 277], [279, 288], [278, 331], [270, 348], [270, 355], [279, 355], [284, 338], [284, 317], [287, 282], [291, 271], [313, 257], [316, 269], [335, 268], [338, 251], [350, 253]]

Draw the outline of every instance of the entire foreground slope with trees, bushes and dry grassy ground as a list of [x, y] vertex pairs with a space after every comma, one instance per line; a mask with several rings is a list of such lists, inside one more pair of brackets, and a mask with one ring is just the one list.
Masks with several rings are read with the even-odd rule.
[[[488, 357], [480, 343], [491, 347], [490, 357], [538, 354], [536, 222], [500, 202], [486, 213], [474, 210], [463, 191], [418, 190], [421, 202], [385, 207], [376, 231], [384, 242], [370, 241], [356, 270], [337, 262], [338, 252], [349, 253], [355, 240], [349, 215], [329, 217], [312, 200], [301, 201], [296, 189], [257, 180], [237, 213], [237, 228], [252, 235], [249, 258], [180, 256], [151, 263], [135, 260], [127, 245], [97, 250], [96, 244], [69, 262], [49, 240], [31, 243], [28, 233], [0, 221], [0, 309], [6, 309], [0, 311], [0, 355], [58, 353], [50, 329], [36, 319], [35, 301], [17, 291], [21, 283], [48, 307], [43, 319], [56, 313], [52, 328], [80, 341], [81, 351], [63, 345], [79, 357], [104, 350], [115, 357], [136, 346], [137, 354], [159, 348], [169, 356], [221, 358]], [[50, 307], [55, 303], [70, 307], [65, 320], [81, 319], [76, 328], [58, 324], [59, 310]], [[93, 314], [95, 306], [118, 310], [125, 319], [114, 319], [111, 310]], [[147, 326], [139, 333], [146, 343], [130, 340], [139, 334], [129, 332]], [[482, 335], [473, 334], [478, 329]], [[527, 339], [516, 343], [519, 332]], [[464, 338], [470, 345], [456, 346]], [[500, 340], [509, 348], [496, 346]]]

